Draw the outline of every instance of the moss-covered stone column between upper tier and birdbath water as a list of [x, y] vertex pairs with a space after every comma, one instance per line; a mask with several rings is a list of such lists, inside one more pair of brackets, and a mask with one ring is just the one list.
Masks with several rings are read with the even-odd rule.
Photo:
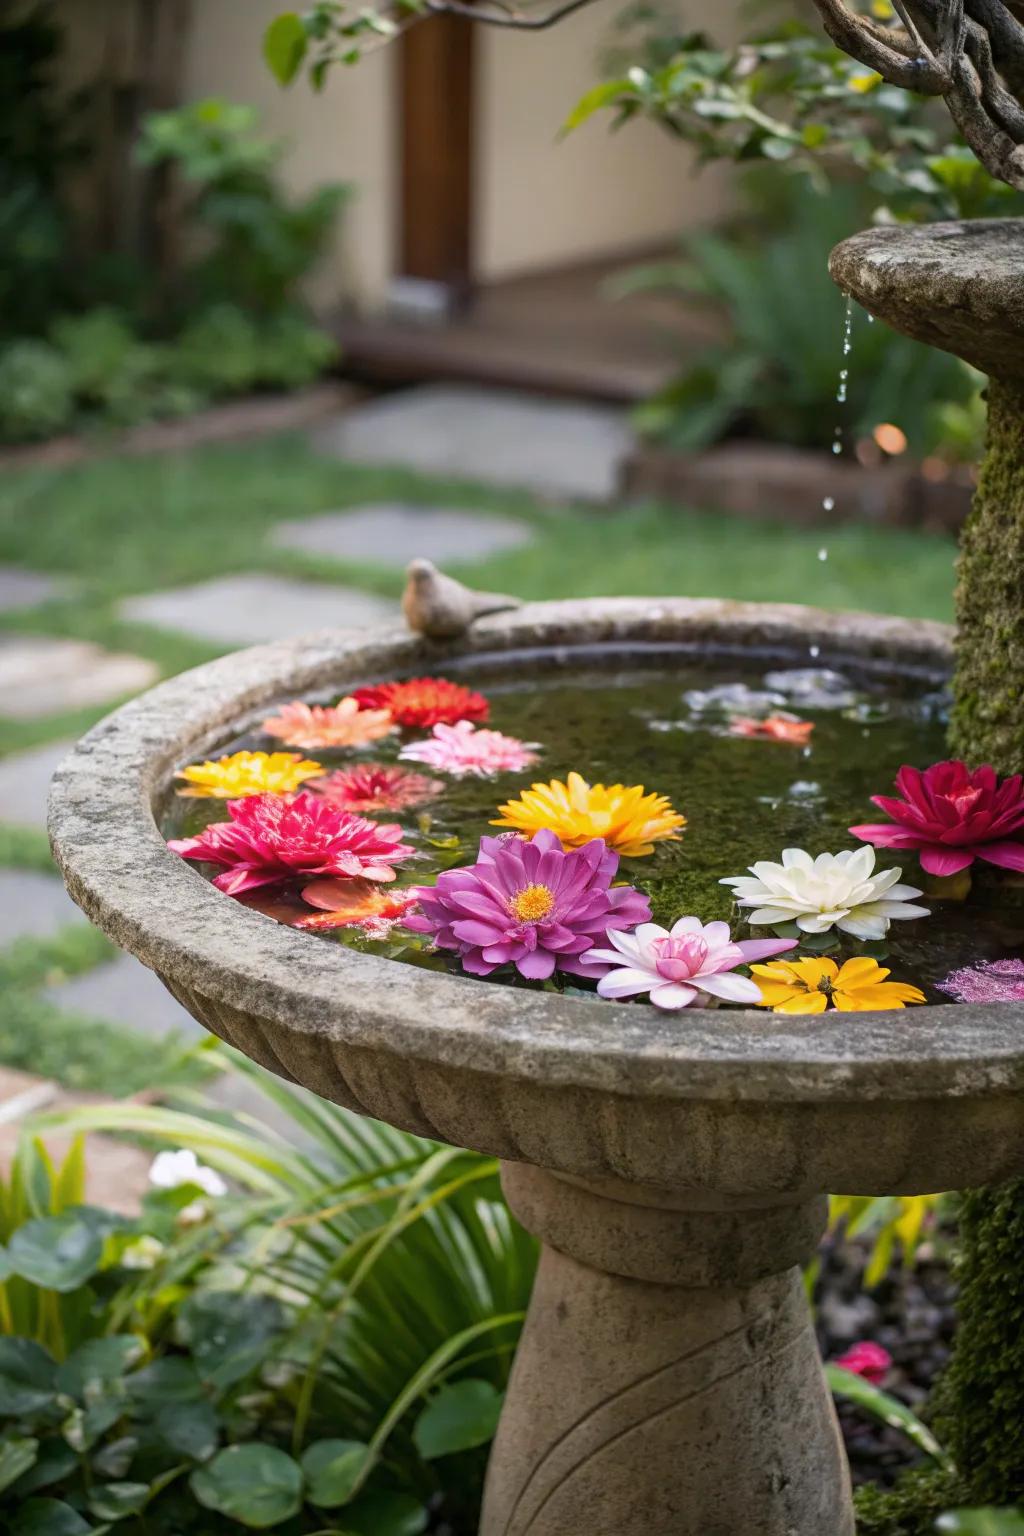
[[953, 751], [1001, 773], [1024, 768], [1024, 386], [998, 379], [961, 539], [953, 691]]

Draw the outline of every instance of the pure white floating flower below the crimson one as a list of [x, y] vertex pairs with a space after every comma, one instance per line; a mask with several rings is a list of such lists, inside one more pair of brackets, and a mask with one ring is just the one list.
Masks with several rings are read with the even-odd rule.
[[[785, 848], [781, 863], [761, 860], [749, 876], [729, 876], [740, 906], [752, 906], [749, 922], [794, 923], [804, 934], [827, 934], [831, 928], [855, 938], [884, 938], [892, 919], [927, 917], [927, 906], [910, 906], [921, 892], [898, 885], [900, 869], [875, 874], [875, 849], [818, 854]], [[752, 879], [751, 879], [752, 877]]]

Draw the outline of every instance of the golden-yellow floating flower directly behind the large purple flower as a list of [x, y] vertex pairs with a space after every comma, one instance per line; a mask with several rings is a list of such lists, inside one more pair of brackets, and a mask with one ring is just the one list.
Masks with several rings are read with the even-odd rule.
[[528, 836], [547, 828], [562, 839], [567, 852], [591, 837], [603, 837], [628, 859], [654, 852], [654, 843], [679, 842], [679, 828], [686, 825], [668, 796], [645, 794], [643, 785], [626, 790], [622, 783], [586, 783], [577, 773], [565, 783], [560, 779], [534, 783], [499, 811], [491, 826], [511, 826]]

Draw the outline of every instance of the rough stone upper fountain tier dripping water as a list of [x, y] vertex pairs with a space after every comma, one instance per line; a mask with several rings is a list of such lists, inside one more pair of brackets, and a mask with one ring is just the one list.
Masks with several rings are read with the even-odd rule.
[[866, 229], [835, 247], [829, 270], [915, 341], [1024, 382], [1024, 218]]

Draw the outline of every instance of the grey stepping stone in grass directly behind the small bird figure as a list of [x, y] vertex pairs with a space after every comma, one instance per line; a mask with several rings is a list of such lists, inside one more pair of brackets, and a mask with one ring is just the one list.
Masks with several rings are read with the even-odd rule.
[[530, 524], [511, 518], [382, 501], [281, 522], [270, 542], [279, 550], [301, 550], [325, 559], [404, 567], [416, 556], [438, 565], [482, 561], [502, 550], [517, 550], [531, 539]]

